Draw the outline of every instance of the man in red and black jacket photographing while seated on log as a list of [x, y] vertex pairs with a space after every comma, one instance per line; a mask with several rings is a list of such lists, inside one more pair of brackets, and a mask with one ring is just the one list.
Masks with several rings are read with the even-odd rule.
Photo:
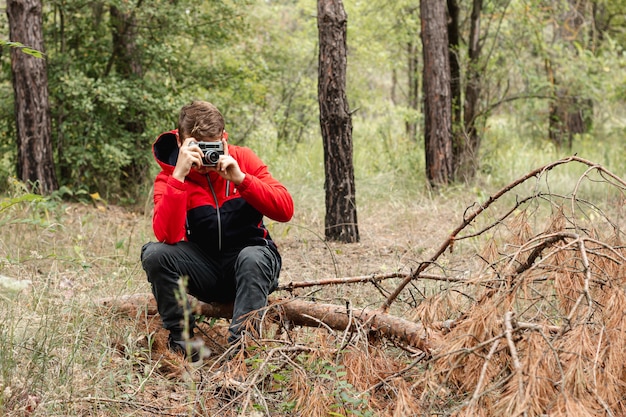
[[[242, 322], [267, 305], [278, 285], [281, 258], [263, 216], [287, 222], [293, 215], [287, 189], [254, 152], [229, 146], [227, 138], [219, 110], [194, 101], [181, 109], [178, 129], [153, 145], [161, 166], [152, 220], [158, 242], [143, 246], [141, 262], [170, 348], [194, 361], [194, 317], [181, 288], [201, 301], [234, 302], [228, 341], [237, 342]], [[217, 154], [199, 142], [209, 142]]]

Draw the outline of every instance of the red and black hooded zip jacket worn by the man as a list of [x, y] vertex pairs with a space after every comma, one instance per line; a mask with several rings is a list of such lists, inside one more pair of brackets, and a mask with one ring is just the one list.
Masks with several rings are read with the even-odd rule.
[[178, 158], [176, 130], [161, 134], [152, 147], [161, 172], [154, 181], [152, 226], [160, 242], [196, 242], [209, 253], [271, 244], [263, 216], [287, 222], [293, 200], [287, 189], [269, 173], [251, 149], [228, 145], [246, 174], [239, 186], [216, 172], [203, 175], [191, 170], [180, 182], [172, 177]]

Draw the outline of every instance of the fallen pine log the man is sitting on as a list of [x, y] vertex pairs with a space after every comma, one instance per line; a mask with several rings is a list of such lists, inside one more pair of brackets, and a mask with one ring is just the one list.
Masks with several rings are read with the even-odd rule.
[[[232, 304], [204, 303], [189, 297], [195, 314], [206, 317], [232, 318]], [[143, 312], [158, 314], [152, 294], [133, 294], [98, 300], [101, 307], [118, 313], [134, 315]], [[274, 321], [289, 321], [296, 326], [328, 327], [338, 331], [367, 331], [370, 336], [399, 341], [427, 354], [432, 351], [424, 326], [388, 313], [349, 305], [322, 304], [298, 298], [271, 298], [265, 317]]]

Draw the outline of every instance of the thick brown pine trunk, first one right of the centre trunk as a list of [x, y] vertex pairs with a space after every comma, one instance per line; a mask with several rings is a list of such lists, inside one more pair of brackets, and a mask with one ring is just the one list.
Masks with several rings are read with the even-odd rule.
[[424, 53], [424, 145], [431, 186], [450, 183], [453, 175], [452, 104], [446, 4], [421, 0]]

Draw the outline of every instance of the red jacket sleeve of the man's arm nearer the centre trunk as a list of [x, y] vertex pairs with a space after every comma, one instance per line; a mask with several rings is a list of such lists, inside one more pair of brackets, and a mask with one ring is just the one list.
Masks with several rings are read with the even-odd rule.
[[278, 222], [288, 222], [293, 216], [293, 199], [277, 179], [272, 177], [261, 159], [252, 151], [245, 155], [242, 171], [246, 174], [237, 189], [241, 196], [261, 214]]

